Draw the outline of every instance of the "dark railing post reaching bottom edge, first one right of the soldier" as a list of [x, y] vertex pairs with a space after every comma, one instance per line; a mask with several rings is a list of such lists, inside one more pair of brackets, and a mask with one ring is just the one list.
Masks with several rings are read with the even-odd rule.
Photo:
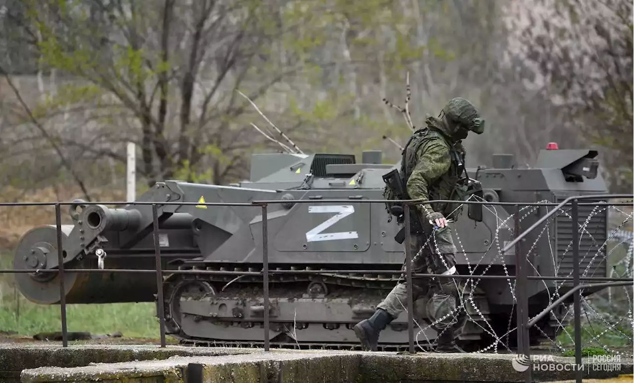
[[[520, 235], [520, 207], [515, 205], [515, 238]], [[517, 299], [517, 351], [531, 359], [531, 344], [529, 341], [529, 328], [526, 328], [528, 323], [528, 278], [526, 277], [526, 257], [522, 254], [522, 241], [515, 243], [515, 298]], [[524, 372], [524, 381], [531, 383], [531, 369], [532, 363], [529, 364], [529, 368]]]

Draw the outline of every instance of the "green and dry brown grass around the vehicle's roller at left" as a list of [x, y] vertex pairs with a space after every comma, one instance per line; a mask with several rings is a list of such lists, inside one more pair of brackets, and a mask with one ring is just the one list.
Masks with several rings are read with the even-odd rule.
[[[76, 189], [76, 188], [75, 188]], [[81, 195], [72, 188], [28, 191], [3, 188], [3, 202], [55, 202]], [[91, 190], [96, 200], [125, 199], [124, 190]], [[68, 207], [62, 207], [63, 224], [70, 223]], [[0, 268], [13, 268], [13, 251], [25, 231], [42, 224], [55, 224], [55, 209], [48, 206], [15, 206], [0, 209]], [[124, 337], [159, 338], [159, 320], [153, 303], [70, 304], [66, 309], [68, 331], [112, 334]], [[13, 285], [13, 275], [0, 275], [0, 332], [32, 337], [39, 332], [61, 331], [59, 305], [42, 306], [27, 301]], [[1, 333], [0, 333], [1, 334]]]

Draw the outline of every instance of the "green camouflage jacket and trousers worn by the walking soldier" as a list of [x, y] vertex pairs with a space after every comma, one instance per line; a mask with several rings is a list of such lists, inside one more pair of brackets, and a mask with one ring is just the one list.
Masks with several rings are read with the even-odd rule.
[[[430, 117], [427, 119], [430, 127], [441, 127], [439, 120]], [[425, 131], [424, 136], [415, 138], [408, 146], [406, 153], [406, 173], [411, 174], [407, 182], [407, 192], [411, 199], [423, 200], [451, 200], [453, 195], [453, 185], [462, 174], [462, 161], [458, 162], [451, 159], [451, 151], [455, 149], [448, 143], [439, 131]], [[421, 142], [422, 141], [422, 142]], [[415, 144], [420, 143], [418, 150]], [[413, 166], [413, 165], [416, 166]], [[430, 186], [436, 186], [434, 188]], [[428, 191], [429, 190], [429, 191]], [[434, 228], [429, 224], [427, 216], [431, 212], [442, 212], [446, 218], [453, 217], [451, 214], [453, 205], [447, 204], [430, 204], [417, 205], [417, 211], [413, 212], [411, 222], [420, 226], [413, 228], [410, 235], [410, 246], [412, 254], [412, 272], [413, 273], [432, 273], [432, 274], [453, 274], [455, 273], [455, 253], [456, 247], [451, 237], [451, 228]], [[420, 254], [417, 254], [420, 251]], [[403, 269], [404, 269], [403, 265]], [[414, 300], [419, 295], [427, 294], [432, 288], [432, 309], [429, 313], [430, 318], [434, 321], [441, 320], [443, 316], [448, 315], [455, 309], [457, 290], [452, 279], [443, 279], [433, 283], [429, 278], [414, 280], [413, 292]], [[440, 284], [439, 284], [439, 283]], [[404, 311], [404, 304], [407, 299], [407, 290], [405, 283], [398, 283], [389, 295], [377, 307], [384, 309], [393, 318], [398, 317]], [[401, 303], [402, 302], [402, 303]], [[437, 315], [436, 315], [437, 314]], [[454, 315], [455, 316], [455, 315]], [[444, 318], [436, 324], [437, 330], [444, 330], [455, 323], [454, 316]]]

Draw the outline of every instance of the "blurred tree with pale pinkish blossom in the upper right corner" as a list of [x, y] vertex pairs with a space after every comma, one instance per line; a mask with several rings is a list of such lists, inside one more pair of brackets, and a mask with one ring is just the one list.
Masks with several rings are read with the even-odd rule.
[[634, 3], [531, 0], [510, 3], [512, 55], [524, 75], [569, 116], [567, 125], [606, 150], [611, 188], [634, 183]]

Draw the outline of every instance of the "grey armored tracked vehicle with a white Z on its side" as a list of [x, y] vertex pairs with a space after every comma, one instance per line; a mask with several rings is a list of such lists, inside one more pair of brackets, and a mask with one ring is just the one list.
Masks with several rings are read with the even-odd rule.
[[[533, 167], [521, 168], [512, 155], [495, 155], [493, 167], [468, 172], [481, 182], [483, 198], [489, 202], [560, 202], [573, 195], [607, 191], [597, 174], [596, 156], [593, 150], [542, 150]], [[361, 163], [349, 154], [254, 154], [251, 164], [249, 181], [229, 186], [165, 181], [138, 200], [158, 204], [280, 201], [268, 205], [269, 269], [332, 272], [271, 274], [271, 346], [358, 347], [352, 327], [372, 315], [375, 305], [400, 278], [378, 270], [399, 270], [404, 259], [403, 246], [394, 240], [399, 231], [396, 219], [389, 221], [384, 204], [365, 204], [363, 200], [382, 199], [382, 176], [399, 164], [382, 164], [380, 152], [364, 152]], [[313, 202], [297, 203], [299, 200]], [[465, 207], [458, 221], [451, 224], [460, 274], [515, 275], [514, 250], [500, 254], [500, 249], [514, 237], [512, 214], [516, 207], [487, 205], [482, 208], [481, 221], [470, 219], [469, 209], [474, 208]], [[519, 231], [526, 230], [548, 209], [552, 208], [523, 208]], [[528, 275], [571, 276], [574, 226], [567, 209], [521, 242], [521, 254], [529, 261]], [[579, 206], [579, 224], [585, 224], [583, 233], [588, 233], [581, 236], [581, 270], [588, 275], [607, 273], [605, 255], [600, 251], [607, 238], [606, 211], [605, 207]], [[107, 269], [154, 268], [150, 205], [108, 208], [82, 205], [79, 200], [70, 213], [74, 224], [63, 226], [66, 269], [97, 268], [100, 258]], [[260, 272], [261, 208], [176, 204], [159, 205], [158, 213], [167, 334], [183, 342], [261, 346], [265, 309], [261, 275], [236, 278], [169, 273], [177, 268]], [[18, 245], [14, 266], [57, 268], [56, 254], [55, 225], [34, 228]], [[60, 299], [56, 274], [18, 274], [16, 280], [31, 301], [56, 304]], [[474, 350], [489, 346], [515, 328], [515, 302], [513, 280], [472, 282], [465, 289], [470, 298], [470, 319], [457, 336], [463, 346]], [[65, 273], [66, 300], [71, 304], [152, 302], [155, 283], [152, 274]], [[571, 288], [568, 282], [528, 283], [529, 317], [544, 309], [555, 291], [564, 294]], [[590, 292], [585, 290], [584, 294]], [[425, 347], [434, 343], [436, 332], [428, 326], [425, 298], [415, 306], [415, 319], [424, 330], [418, 341]], [[531, 341], [553, 339], [562, 327], [560, 315], [555, 311], [538, 323], [531, 330]], [[382, 332], [379, 349], [406, 347], [406, 328], [407, 316], [403, 314]], [[508, 335], [511, 346], [515, 334]]]

